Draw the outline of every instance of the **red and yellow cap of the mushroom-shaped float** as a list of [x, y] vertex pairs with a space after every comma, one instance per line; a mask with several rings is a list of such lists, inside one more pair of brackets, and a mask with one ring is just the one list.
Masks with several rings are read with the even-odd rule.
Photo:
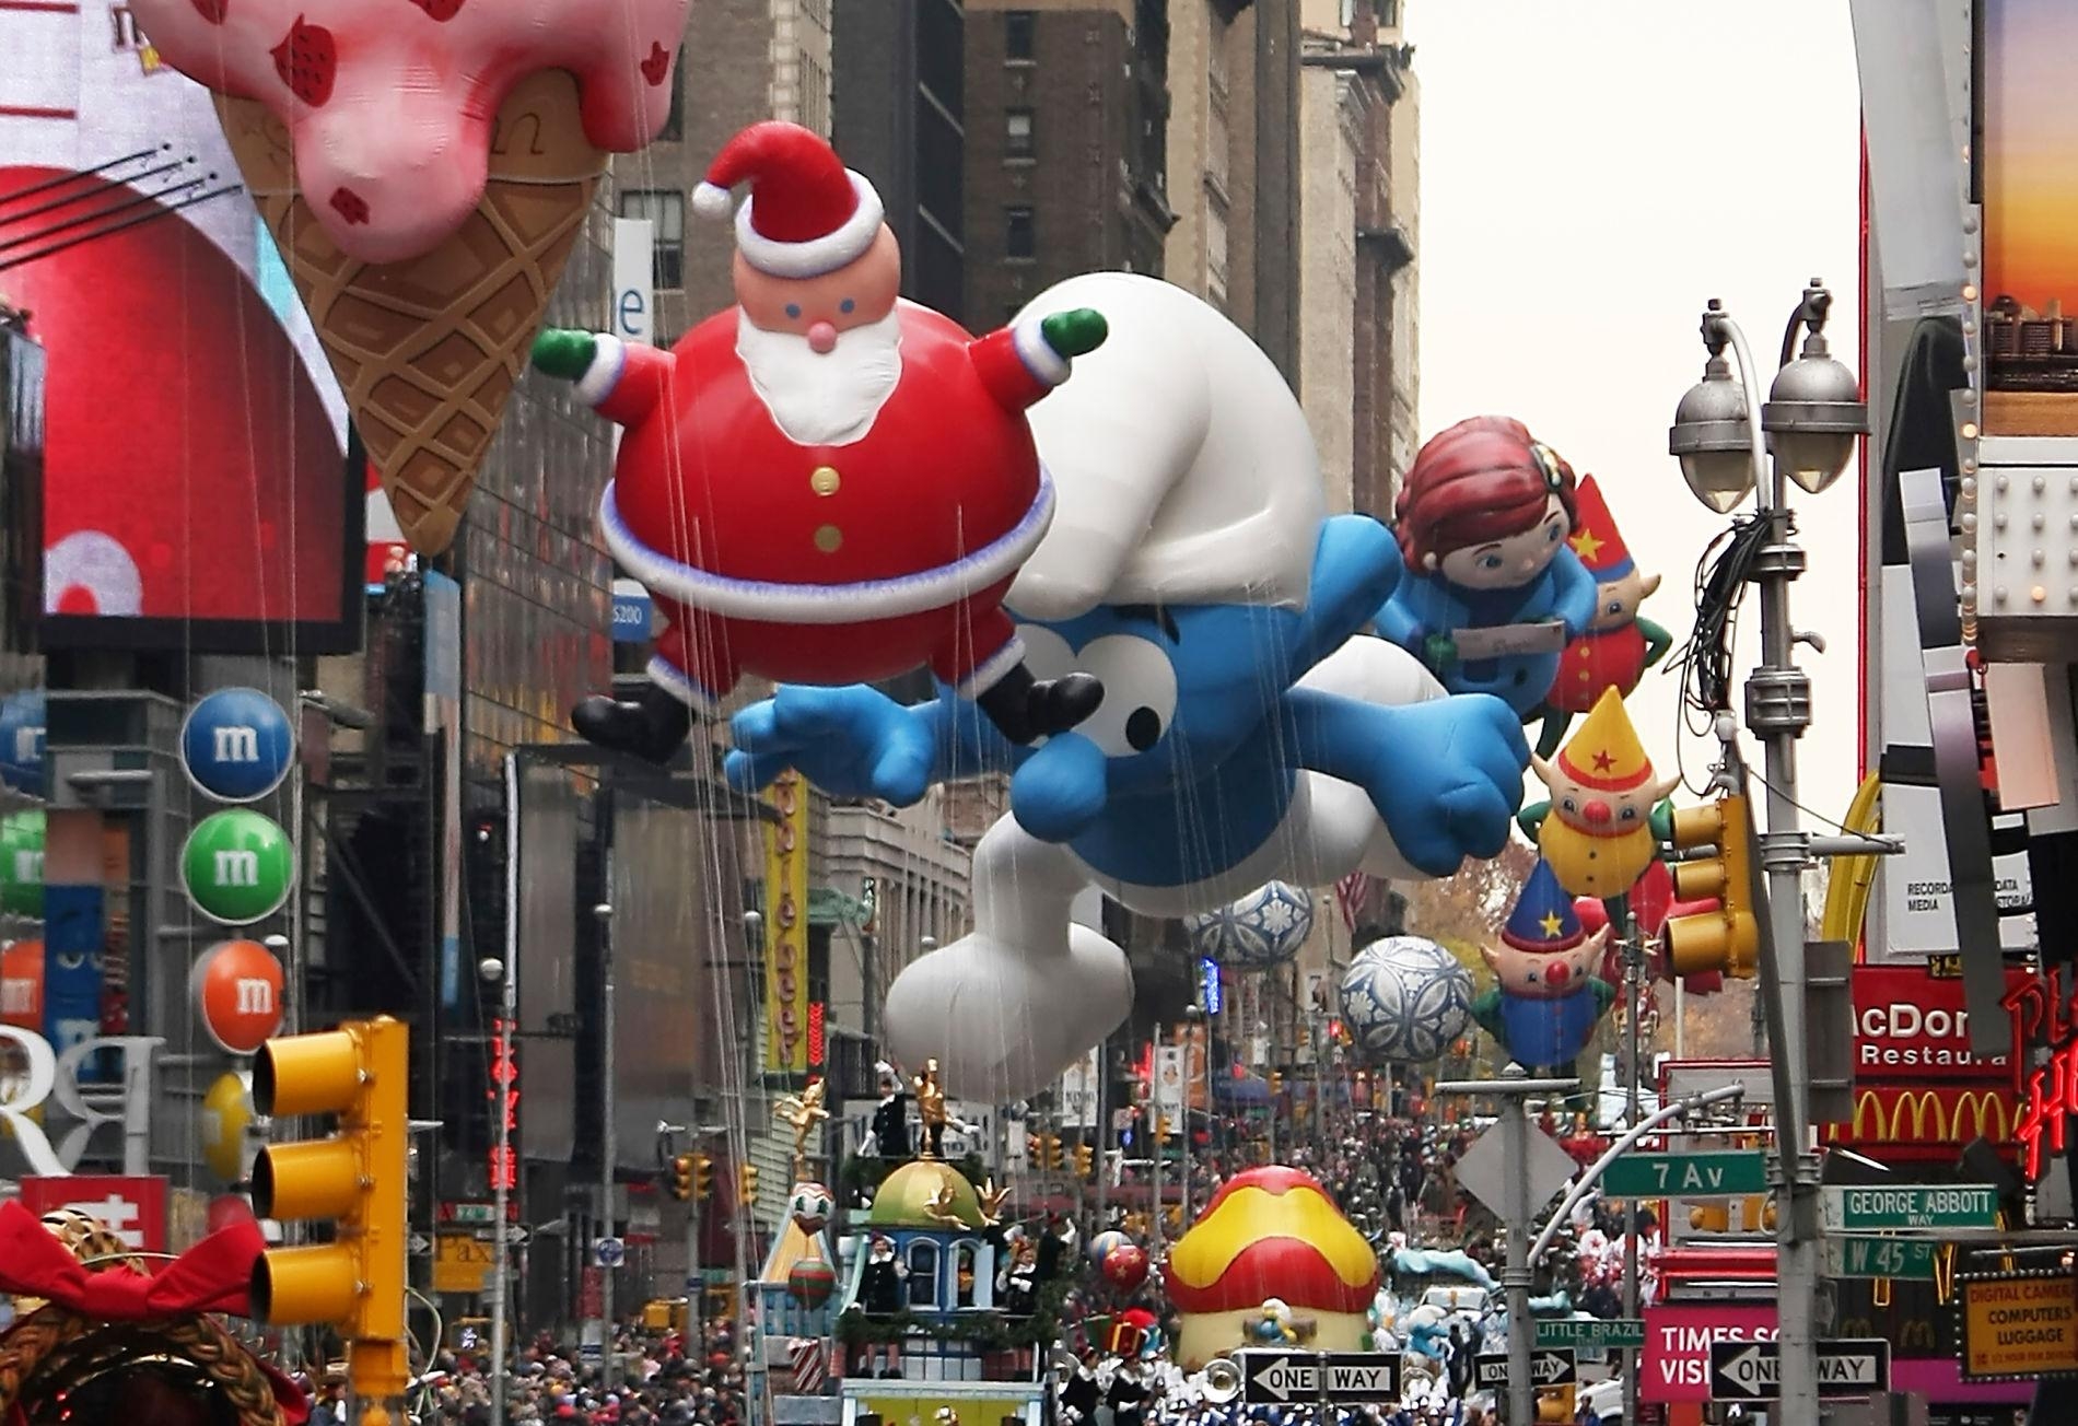
[[1245, 1312], [1266, 1297], [1313, 1312], [1363, 1312], [1378, 1295], [1378, 1253], [1317, 1179], [1251, 1168], [1228, 1179], [1170, 1249], [1166, 1285], [1187, 1314]]

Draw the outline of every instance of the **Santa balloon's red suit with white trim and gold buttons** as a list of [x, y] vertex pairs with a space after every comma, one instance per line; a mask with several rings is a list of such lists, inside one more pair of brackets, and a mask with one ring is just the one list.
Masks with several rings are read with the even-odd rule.
[[788, 437], [738, 312], [671, 351], [601, 339], [578, 395], [625, 426], [598, 516], [667, 628], [650, 678], [711, 711], [744, 674], [850, 684], [929, 665], [973, 696], [1022, 659], [1002, 597], [1054, 516], [1022, 412], [1068, 364], [898, 306], [902, 374], [844, 445]]

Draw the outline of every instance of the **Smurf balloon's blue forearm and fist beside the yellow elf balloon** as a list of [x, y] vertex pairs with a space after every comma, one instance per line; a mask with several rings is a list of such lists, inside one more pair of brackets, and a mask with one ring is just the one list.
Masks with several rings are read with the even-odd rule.
[[1446, 877], [1467, 856], [1507, 846], [1529, 744], [1500, 698], [1380, 707], [1293, 688], [1284, 703], [1299, 765], [1369, 792], [1392, 844], [1417, 869]]

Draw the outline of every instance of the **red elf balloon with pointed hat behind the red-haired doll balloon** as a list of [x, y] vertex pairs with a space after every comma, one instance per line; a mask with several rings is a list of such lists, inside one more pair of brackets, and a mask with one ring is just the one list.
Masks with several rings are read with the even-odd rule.
[[1596, 580], [1594, 624], [1558, 657], [1558, 676], [1544, 696], [1548, 711], [1538, 742], [1540, 757], [1552, 755], [1573, 715], [1590, 711], [1604, 688], [1629, 698], [1646, 669], [1673, 644], [1667, 630], [1637, 613], [1660, 586], [1660, 576], [1637, 572], [1594, 476], [1579, 480], [1573, 538], [1567, 545]]

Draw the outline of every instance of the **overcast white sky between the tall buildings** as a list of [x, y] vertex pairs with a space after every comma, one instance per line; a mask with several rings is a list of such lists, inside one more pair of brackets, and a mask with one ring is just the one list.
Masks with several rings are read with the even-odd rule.
[[[1847, 2], [1405, 8], [1421, 77], [1421, 434], [1515, 416], [1594, 472], [1640, 567], [1664, 576], [1646, 613], [1679, 642], [1696, 559], [1723, 528], [1667, 455], [1675, 403], [1702, 374], [1704, 301], [1725, 299], [1773, 376], [1783, 322], [1822, 276], [1833, 353], [1860, 366]], [[1812, 567], [1791, 607], [1831, 649], [1800, 651], [1816, 703], [1800, 800], [1839, 817], [1856, 782], [1851, 470], [1797, 497]], [[1741, 651], [1758, 628], [1748, 601]], [[1631, 698], [1660, 767], [1675, 709], [1658, 671]], [[1691, 775], [1706, 752], [1687, 748]]]

